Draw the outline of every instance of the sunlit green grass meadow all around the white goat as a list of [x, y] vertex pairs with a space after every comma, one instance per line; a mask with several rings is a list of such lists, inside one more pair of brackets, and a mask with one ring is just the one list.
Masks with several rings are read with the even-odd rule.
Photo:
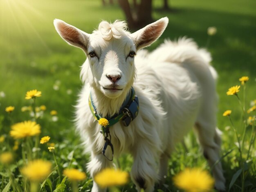
[[[169, 24], [164, 34], [148, 49], [153, 50], [165, 38], [171, 40], [180, 36], [193, 38], [199, 47], [207, 44], [207, 28], [215, 26], [217, 33], [211, 36], [208, 50], [211, 52], [212, 65], [218, 72], [217, 92], [219, 94], [218, 127], [222, 130], [222, 166], [224, 169], [227, 191], [256, 191], [256, 144], [254, 124], [247, 122], [255, 111], [247, 110], [256, 105], [256, 2], [254, 0], [171, 0], [172, 11], [162, 11], [160, 0], [153, 0], [153, 18], [164, 16]], [[26, 92], [38, 89], [42, 96], [36, 98], [36, 106], [46, 106], [45, 110], [37, 109], [40, 117], [37, 123], [41, 126], [40, 137], [50, 136], [50, 143], [55, 143], [56, 163], [62, 173], [67, 167], [74, 167], [86, 172], [85, 164], [89, 155], [83, 154], [84, 146], [74, 127], [74, 105], [81, 88], [79, 78], [80, 66], [86, 56], [80, 49], [67, 45], [56, 33], [53, 20], [58, 18], [91, 33], [101, 20], [125, 20], [118, 4], [103, 7], [100, 0], [0, 0], [0, 153], [12, 150], [15, 140], [9, 135], [14, 123], [31, 120], [31, 111], [22, 112], [24, 106], [33, 106], [33, 100], [26, 100]], [[246, 89], [238, 80], [248, 76]], [[236, 96], [227, 96], [229, 87], [241, 85], [238, 96], [244, 105], [243, 112]], [[85, 101], [87, 102], [87, 101]], [[11, 113], [6, 107], [14, 106]], [[24, 108], [23, 108], [24, 109]], [[232, 110], [230, 118], [223, 116], [227, 109]], [[57, 114], [50, 112], [55, 110]], [[32, 110], [33, 111], [33, 110]], [[40, 111], [40, 112], [39, 112]], [[247, 126], [248, 125], [248, 126]], [[244, 154], [240, 158], [236, 138], [244, 143]], [[244, 136], [245, 135], [245, 136]], [[34, 138], [36, 140], [36, 138]], [[10, 165], [14, 180], [22, 187], [20, 167], [22, 159], [22, 140], [14, 152], [15, 163]], [[31, 141], [32, 142], [32, 141]], [[34, 141], [33, 141], [34, 142]], [[37, 155], [55, 164], [47, 145], [38, 145]], [[156, 185], [156, 190], [177, 191], [172, 178], [185, 167], [202, 167], [211, 171], [202, 156], [196, 137], [191, 131], [183, 144], [176, 147], [169, 161], [168, 176], [163, 186]], [[117, 167], [129, 172], [132, 157], [121, 156], [115, 160]], [[243, 171], [240, 172], [240, 169]], [[64, 177], [61, 175], [61, 179]], [[56, 190], [60, 176], [55, 168], [42, 191], [72, 191], [72, 182], [66, 180], [62, 188]], [[0, 191], [9, 183], [9, 174], [5, 165], [0, 165]], [[232, 185], [231, 185], [232, 184]], [[90, 191], [92, 179], [78, 183], [80, 191]], [[242, 187], [243, 186], [243, 187]], [[6, 188], [5, 188], [6, 189]], [[13, 188], [10, 188], [13, 189]], [[121, 191], [136, 191], [130, 181]], [[15, 190], [14, 190], [15, 191]]]

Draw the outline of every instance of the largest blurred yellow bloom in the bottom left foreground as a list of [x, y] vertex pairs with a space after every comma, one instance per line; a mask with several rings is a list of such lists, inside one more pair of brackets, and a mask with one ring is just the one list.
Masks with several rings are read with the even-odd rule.
[[52, 163], [49, 161], [37, 159], [23, 167], [21, 172], [31, 181], [42, 181], [51, 173], [51, 167]]

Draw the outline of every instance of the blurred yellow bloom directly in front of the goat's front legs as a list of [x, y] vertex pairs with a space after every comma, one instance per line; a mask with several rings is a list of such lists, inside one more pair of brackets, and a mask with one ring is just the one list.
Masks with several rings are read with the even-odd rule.
[[[106, 179], [111, 178], [111, 179]], [[115, 185], [125, 185], [128, 183], [129, 174], [121, 170], [114, 170], [106, 168], [94, 176], [94, 181], [101, 186], [101, 188], [111, 187]]]

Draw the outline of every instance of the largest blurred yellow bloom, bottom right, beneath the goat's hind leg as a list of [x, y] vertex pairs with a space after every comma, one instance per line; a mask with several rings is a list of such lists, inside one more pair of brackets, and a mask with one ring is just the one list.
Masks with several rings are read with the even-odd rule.
[[213, 188], [214, 180], [200, 168], [185, 169], [173, 178], [174, 184], [186, 192], [205, 192]]

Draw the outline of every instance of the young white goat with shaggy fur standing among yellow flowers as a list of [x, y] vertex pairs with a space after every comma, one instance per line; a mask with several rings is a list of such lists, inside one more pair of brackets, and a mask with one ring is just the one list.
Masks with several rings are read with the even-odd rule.
[[[154, 190], [164, 180], [175, 144], [195, 125], [204, 156], [212, 167], [219, 159], [221, 139], [216, 128], [216, 71], [210, 54], [191, 39], [166, 40], [152, 53], [138, 51], [162, 35], [168, 18], [129, 33], [123, 21], [102, 21], [92, 34], [54, 20], [59, 35], [88, 56], [81, 70], [83, 89], [76, 106], [77, 129], [91, 152], [92, 178], [112, 161], [102, 154], [104, 136], [92, 114], [88, 98], [102, 117], [120, 113], [131, 87], [139, 99], [139, 112], [128, 127], [122, 121], [110, 126], [111, 143], [118, 157], [130, 152], [130, 172], [138, 191]], [[136, 55], [136, 56], [135, 56]], [[106, 156], [111, 157], [111, 148]], [[159, 173], [157, 173], [159, 172]], [[215, 187], [225, 190], [221, 163], [214, 165]], [[106, 191], [93, 183], [93, 192]]]

